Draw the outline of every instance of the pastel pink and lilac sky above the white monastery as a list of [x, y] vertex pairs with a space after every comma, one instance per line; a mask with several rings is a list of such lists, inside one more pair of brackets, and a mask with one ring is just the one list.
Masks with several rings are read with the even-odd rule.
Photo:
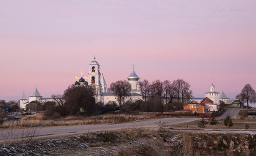
[[[256, 1], [0, 1], [0, 99], [62, 94], [94, 58], [108, 87], [184, 79], [204, 97], [256, 90]], [[87, 76], [87, 75], [86, 75]]]

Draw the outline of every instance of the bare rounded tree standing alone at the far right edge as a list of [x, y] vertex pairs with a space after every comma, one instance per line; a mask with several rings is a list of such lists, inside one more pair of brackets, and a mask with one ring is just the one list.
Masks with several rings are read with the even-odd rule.
[[240, 101], [245, 101], [247, 103], [247, 109], [249, 109], [249, 103], [256, 102], [256, 93], [251, 85], [246, 84], [241, 90], [241, 93], [236, 95], [236, 99]]

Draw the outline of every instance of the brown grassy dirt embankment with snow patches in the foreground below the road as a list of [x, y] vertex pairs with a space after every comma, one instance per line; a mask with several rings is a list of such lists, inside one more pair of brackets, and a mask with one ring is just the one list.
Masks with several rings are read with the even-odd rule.
[[1, 155], [255, 155], [256, 135], [173, 132], [159, 127], [100, 131], [1, 144]]

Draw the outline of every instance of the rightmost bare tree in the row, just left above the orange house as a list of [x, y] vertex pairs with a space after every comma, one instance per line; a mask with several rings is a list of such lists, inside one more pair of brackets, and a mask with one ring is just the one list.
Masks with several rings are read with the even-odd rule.
[[184, 81], [184, 79], [177, 79], [173, 81], [173, 90], [175, 92], [178, 102], [180, 99], [184, 103], [184, 99], [189, 95], [192, 95], [192, 90], [190, 89], [189, 82]]

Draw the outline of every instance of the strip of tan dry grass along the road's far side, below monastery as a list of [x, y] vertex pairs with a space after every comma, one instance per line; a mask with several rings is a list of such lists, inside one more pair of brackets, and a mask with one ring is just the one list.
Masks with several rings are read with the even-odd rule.
[[41, 127], [41, 126], [61, 126], [61, 125], [94, 125], [94, 124], [108, 124], [108, 123], [122, 123], [133, 122], [136, 120], [148, 120], [155, 117], [154, 114], [104, 114], [91, 117], [61, 117], [59, 119], [52, 119], [45, 117], [43, 113], [32, 114], [27, 117], [14, 122], [4, 122], [1, 128], [14, 127]]

